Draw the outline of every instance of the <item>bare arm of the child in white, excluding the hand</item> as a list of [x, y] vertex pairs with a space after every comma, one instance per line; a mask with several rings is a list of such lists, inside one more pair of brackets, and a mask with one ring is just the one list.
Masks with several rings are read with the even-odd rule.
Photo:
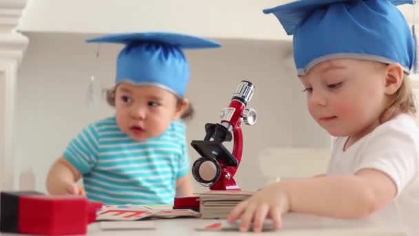
[[296, 179], [283, 183], [289, 210], [328, 217], [358, 218], [373, 213], [396, 197], [388, 175], [364, 169], [356, 175]]

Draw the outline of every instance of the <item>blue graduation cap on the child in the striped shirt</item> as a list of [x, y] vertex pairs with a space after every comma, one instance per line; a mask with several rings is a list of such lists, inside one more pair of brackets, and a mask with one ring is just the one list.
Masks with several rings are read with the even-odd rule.
[[116, 60], [115, 84], [160, 86], [179, 97], [185, 95], [190, 70], [183, 49], [215, 48], [210, 39], [172, 32], [132, 32], [88, 39], [96, 43], [123, 43]]

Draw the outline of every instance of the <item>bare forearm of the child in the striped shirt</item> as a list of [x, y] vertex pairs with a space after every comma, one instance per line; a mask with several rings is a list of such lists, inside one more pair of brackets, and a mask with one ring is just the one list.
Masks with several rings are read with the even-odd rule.
[[76, 182], [80, 179], [81, 173], [70, 161], [60, 157], [51, 166], [47, 177], [48, 193], [52, 195], [79, 194]]

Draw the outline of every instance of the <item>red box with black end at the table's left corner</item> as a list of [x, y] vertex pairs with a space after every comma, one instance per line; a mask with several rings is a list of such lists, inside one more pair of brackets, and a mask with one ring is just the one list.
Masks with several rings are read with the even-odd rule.
[[99, 201], [38, 192], [1, 193], [0, 231], [37, 235], [81, 235], [96, 220]]

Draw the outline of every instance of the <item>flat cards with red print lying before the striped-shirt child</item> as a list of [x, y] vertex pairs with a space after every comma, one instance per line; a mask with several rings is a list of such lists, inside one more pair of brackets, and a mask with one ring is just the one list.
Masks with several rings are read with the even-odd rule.
[[170, 205], [119, 205], [103, 206], [96, 213], [96, 221], [134, 221], [147, 218], [199, 217], [200, 214], [190, 209], [174, 210]]

